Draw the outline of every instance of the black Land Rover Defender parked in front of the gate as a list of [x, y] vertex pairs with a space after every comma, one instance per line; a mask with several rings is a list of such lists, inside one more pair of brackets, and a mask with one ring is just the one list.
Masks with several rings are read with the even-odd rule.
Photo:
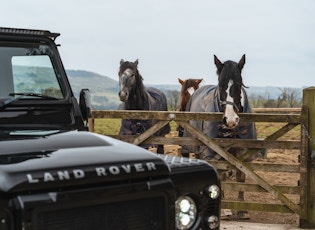
[[211, 165], [88, 132], [58, 35], [0, 28], [0, 229], [219, 229]]

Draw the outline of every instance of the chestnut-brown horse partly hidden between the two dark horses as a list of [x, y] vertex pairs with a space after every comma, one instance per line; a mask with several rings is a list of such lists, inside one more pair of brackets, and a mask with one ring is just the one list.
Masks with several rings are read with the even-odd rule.
[[[194, 78], [182, 80], [178, 78], [178, 82], [182, 86], [180, 90], [180, 94], [179, 94], [179, 102], [180, 102], [179, 111], [186, 111], [186, 105], [191, 95], [199, 88], [199, 84], [202, 82], [202, 80], [203, 79], [194, 79]], [[178, 126], [177, 131], [178, 131], [178, 136], [182, 137], [184, 134], [183, 127]]]

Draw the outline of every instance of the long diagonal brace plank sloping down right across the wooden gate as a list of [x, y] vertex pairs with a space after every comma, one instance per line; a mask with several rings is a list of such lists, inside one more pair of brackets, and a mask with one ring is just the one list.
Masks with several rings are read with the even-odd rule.
[[283, 204], [285, 204], [289, 209], [291, 209], [295, 213], [300, 213], [300, 208], [298, 205], [294, 204], [291, 200], [289, 200], [286, 196], [284, 196], [279, 189], [270, 185], [263, 178], [258, 176], [256, 173], [252, 171], [245, 163], [239, 161], [237, 158], [224, 151], [220, 146], [218, 146], [214, 141], [209, 139], [203, 133], [199, 132], [196, 128], [192, 127], [186, 122], [180, 122], [181, 126], [183, 126], [189, 133], [195, 135], [200, 141], [202, 141], [205, 145], [213, 149], [217, 154], [223, 157], [225, 160], [229, 161], [233, 166], [237, 169], [245, 173], [247, 176], [251, 177], [256, 183], [258, 183], [261, 187], [263, 187], [266, 191], [270, 192], [276, 198], [281, 200]]

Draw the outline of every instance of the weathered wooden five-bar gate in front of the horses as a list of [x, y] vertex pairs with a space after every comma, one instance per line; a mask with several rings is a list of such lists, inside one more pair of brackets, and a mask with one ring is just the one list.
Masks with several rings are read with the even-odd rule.
[[[304, 96], [311, 98], [314, 103], [315, 90], [310, 90], [311, 96]], [[303, 91], [304, 93], [304, 91]], [[310, 99], [309, 99], [310, 100]], [[315, 107], [315, 106], [314, 106]], [[299, 112], [300, 111], [300, 112]], [[273, 122], [285, 123], [285, 125], [269, 135], [263, 140], [244, 140], [244, 139], [220, 139], [209, 138], [199, 130], [190, 126], [186, 121], [188, 120], [213, 120], [219, 121], [222, 119], [222, 113], [190, 113], [190, 112], [175, 112], [175, 111], [93, 111], [93, 119], [90, 121], [90, 129], [93, 131], [93, 121], [99, 118], [124, 118], [124, 119], [154, 119], [159, 122], [148, 129], [145, 133], [137, 136], [114, 136], [117, 139], [127, 141], [139, 145], [143, 144], [164, 144], [164, 145], [206, 145], [212, 148], [217, 154], [223, 157], [227, 162], [211, 161], [217, 169], [239, 169], [251, 178], [255, 184], [246, 183], [222, 183], [224, 190], [234, 191], [250, 191], [250, 192], [268, 192], [273, 197], [281, 201], [280, 204], [262, 204], [251, 202], [240, 202], [223, 200], [222, 208], [238, 209], [238, 210], [253, 210], [264, 212], [282, 212], [282, 213], [296, 213], [300, 216], [301, 227], [315, 227], [315, 215], [313, 210], [313, 203], [315, 202], [314, 195], [314, 165], [311, 164], [311, 154], [309, 151], [310, 140], [312, 133], [309, 131], [309, 106], [305, 104], [301, 109], [298, 109], [298, 114], [279, 114], [279, 113], [253, 113], [240, 114], [240, 119], [244, 122]], [[313, 114], [315, 114], [315, 111]], [[157, 130], [164, 127], [169, 122], [176, 122], [183, 126], [188, 132], [193, 134], [193, 137], [153, 137]], [[296, 126], [301, 127], [301, 138], [298, 141], [292, 140], [278, 140], [288, 131]], [[315, 135], [314, 135], [315, 136]], [[246, 147], [249, 149], [247, 154], [253, 154], [257, 149], [277, 148], [277, 149], [297, 149], [300, 150], [300, 164], [281, 165], [281, 164], [261, 164], [243, 162], [229, 154], [226, 147]], [[312, 169], [310, 169], [312, 168]], [[286, 173], [299, 173], [300, 183], [296, 186], [275, 186], [268, 183], [265, 179], [257, 174], [257, 171], [273, 171]], [[310, 172], [311, 171], [311, 172]], [[299, 202], [294, 202], [288, 198], [287, 194], [299, 195]]]

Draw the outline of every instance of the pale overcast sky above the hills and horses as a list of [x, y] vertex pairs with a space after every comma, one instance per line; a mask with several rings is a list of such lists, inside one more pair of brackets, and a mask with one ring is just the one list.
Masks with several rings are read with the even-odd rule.
[[45, 29], [66, 69], [118, 80], [120, 59], [139, 59], [145, 84], [203, 78], [213, 61], [246, 54], [247, 86], [315, 85], [314, 0], [10, 0], [0, 26]]

